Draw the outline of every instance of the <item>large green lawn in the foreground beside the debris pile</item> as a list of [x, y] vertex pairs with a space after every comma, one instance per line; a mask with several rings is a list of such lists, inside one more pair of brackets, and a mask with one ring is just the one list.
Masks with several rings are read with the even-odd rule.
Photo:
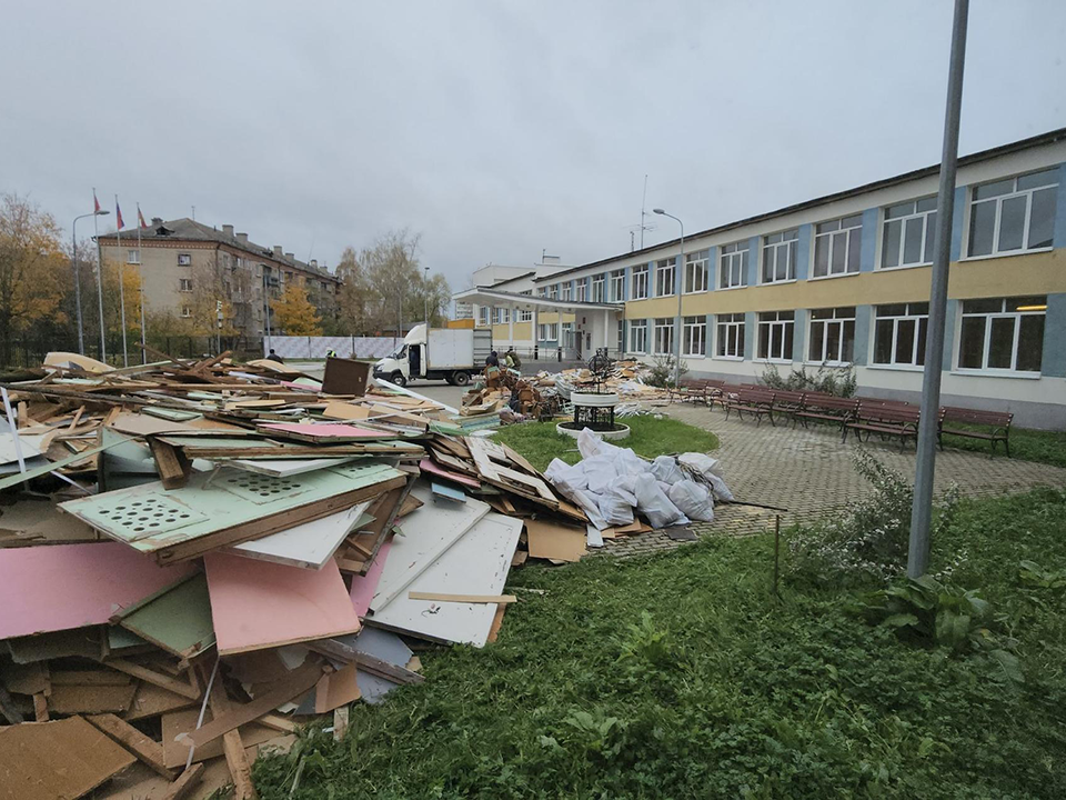
[[1020, 687], [871, 627], [856, 592], [776, 601], [772, 538], [710, 539], [512, 572], [545, 593], [515, 592], [497, 643], [423, 653], [343, 743], [260, 759], [261, 797], [301, 759], [305, 799], [1066, 797], [1066, 590], [1018, 576], [1066, 568], [1066, 494], [964, 501], [934, 548], [934, 571], [969, 553], [954, 581], [1018, 640]]

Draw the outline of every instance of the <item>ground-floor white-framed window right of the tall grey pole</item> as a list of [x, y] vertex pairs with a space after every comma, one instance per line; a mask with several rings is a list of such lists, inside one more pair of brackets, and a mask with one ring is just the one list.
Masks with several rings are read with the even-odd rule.
[[958, 369], [1040, 371], [1046, 297], [963, 300]]

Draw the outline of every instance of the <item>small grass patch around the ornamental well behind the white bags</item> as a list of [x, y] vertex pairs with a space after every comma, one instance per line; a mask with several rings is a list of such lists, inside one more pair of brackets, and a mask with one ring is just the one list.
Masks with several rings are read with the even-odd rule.
[[[630, 426], [630, 436], [620, 442], [644, 458], [663, 453], [710, 452], [718, 447], [718, 438], [680, 420], [664, 417], [628, 417], [622, 420]], [[496, 431], [496, 441], [514, 448], [539, 470], [547, 469], [553, 458], [566, 463], [576, 463], [581, 456], [577, 442], [555, 431], [555, 422], [523, 422], [506, 426]]]

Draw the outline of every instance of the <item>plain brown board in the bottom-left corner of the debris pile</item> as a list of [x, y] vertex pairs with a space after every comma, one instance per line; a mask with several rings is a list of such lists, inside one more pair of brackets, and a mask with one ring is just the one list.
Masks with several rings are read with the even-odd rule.
[[0, 728], [0, 800], [78, 798], [135, 760], [81, 717]]

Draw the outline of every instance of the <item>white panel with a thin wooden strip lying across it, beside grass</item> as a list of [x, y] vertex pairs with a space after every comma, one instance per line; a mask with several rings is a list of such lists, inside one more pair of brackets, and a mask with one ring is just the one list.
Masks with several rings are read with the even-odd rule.
[[[410, 584], [411, 591], [499, 596], [522, 533], [522, 520], [489, 513]], [[395, 556], [395, 553], [393, 553]], [[492, 603], [413, 600], [404, 592], [374, 611], [375, 624], [438, 641], [484, 647], [496, 607]]]

